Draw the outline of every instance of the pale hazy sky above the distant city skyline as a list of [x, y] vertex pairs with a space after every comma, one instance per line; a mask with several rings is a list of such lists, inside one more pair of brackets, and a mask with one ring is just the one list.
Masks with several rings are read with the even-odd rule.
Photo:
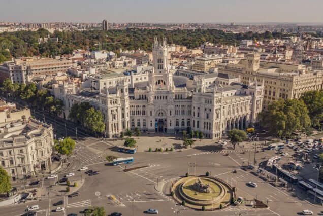
[[0, 0], [8, 22], [323, 22], [322, 0]]

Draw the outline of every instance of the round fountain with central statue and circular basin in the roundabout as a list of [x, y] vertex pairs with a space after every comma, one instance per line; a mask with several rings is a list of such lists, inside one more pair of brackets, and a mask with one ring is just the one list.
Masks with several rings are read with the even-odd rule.
[[183, 177], [171, 187], [173, 198], [185, 206], [206, 210], [216, 210], [230, 205], [233, 197], [231, 186], [225, 181], [202, 175]]

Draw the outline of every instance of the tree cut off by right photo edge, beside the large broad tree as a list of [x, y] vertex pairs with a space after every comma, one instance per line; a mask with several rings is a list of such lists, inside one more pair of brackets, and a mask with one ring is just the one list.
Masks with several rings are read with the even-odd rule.
[[313, 127], [322, 127], [323, 122], [323, 90], [308, 91], [303, 93], [300, 100], [303, 100], [309, 112]]

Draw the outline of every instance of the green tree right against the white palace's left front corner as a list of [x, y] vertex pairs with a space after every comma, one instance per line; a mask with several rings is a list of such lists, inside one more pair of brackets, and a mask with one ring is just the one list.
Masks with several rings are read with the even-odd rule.
[[85, 112], [84, 125], [94, 133], [102, 133], [106, 126], [101, 112], [99, 110], [95, 110], [93, 107]]

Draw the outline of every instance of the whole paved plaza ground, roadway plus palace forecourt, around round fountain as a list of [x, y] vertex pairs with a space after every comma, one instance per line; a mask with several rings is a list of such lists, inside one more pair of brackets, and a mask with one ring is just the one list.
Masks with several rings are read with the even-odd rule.
[[[144, 215], [148, 208], [156, 208], [160, 215], [175, 215], [172, 208], [175, 208], [175, 202], [170, 196], [170, 185], [176, 179], [184, 176], [186, 172], [190, 175], [204, 175], [207, 171], [211, 176], [221, 178], [231, 186], [237, 187], [237, 196], [245, 198], [244, 204], [239, 206], [230, 206], [218, 211], [196, 211], [186, 208], [182, 210], [182, 215], [235, 215], [235, 213], [247, 212], [248, 215], [297, 215], [304, 209], [310, 209], [314, 215], [323, 215], [322, 206], [315, 206], [309, 203], [304, 195], [305, 192], [295, 186], [294, 189], [278, 187], [269, 179], [260, 177], [254, 170], [245, 169], [250, 162], [257, 164], [268, 158], [277, 156], [275, 151], [255, 149], [254, 143], [243, 143], [235, 150], [232, 148], [221, 148], [215, 144], [214, 140], [196, 141], [192, 148], [180, 149], [182, 142], [175, 137], [141, 136], [136, 137], [138, 152], [134, 155], [119, 153], [116, 146], [123, 143], [122, 140], [87, 138], [80, 140], [69, 159], [71, 163], [69, 169], [58, 174], [58, 179], [69, 172], [74, 172], [75, 176], [70, 177], [71, 181], [84, 183], [79, 187], [79, 196], [70, 198], [66, 193], [51, 192], [48, 196], [47, 187], [53, 180], [41, 178], [41, 187], [44, 194], [41, 201], [15, 204], [13, 206], [2, 207], [2, 215], [21, 215], [24, 213], [26, 205], [38, 204], [40, 209], [38, 215], [67, 215], [69, 213], [78, 213], [90, 206], [104, 206], [108, 213], [121, 212], [123, 215]], [[165, 145], [167, 143], [167, 145]], [[173, 152], [148, 152], [149, 147], [176, 147]], [[182, 150], [182, 151], [180, 151]], [[256, 151], [259, 152], [256, 152]], [[292, 149], [286, 148], [289, 155], [293, 154]], [[256, 152], [256, 153], [255, 153]], [[229, 153], [227, 156], [226, 154]], [[133, 156], [135, 162], [120, 166], [112, 166], [105, 160], [105, 156], [114, 155], [118, 157]], [[255, 157], [255, 158], [254, 158]], [[283, 165], [290, 158], [281, 156], [279, 161]], [[244, 165], [244, 167], [242, 167]], [[82, 166], [88, 166], [89, 169], [99, 171], [100, 174], [88, 176], [78, 171]], [[146, 166], [144, 168], [134, 169], [124, 172], [123, 169]], [[237, 170], [237, 173], [233, 173]], [[301, 175], [302, 173], [299, 173]], [[256, 182], [258, 187], [251, 188], [248, 182]], [[27, 182], [28, 183], [28, 182]], [[25, 183], [25, 184], [27, 184]], [[22, 190], [22, 183], [17, 184]], [[39, 188], [29, 187], [27, 189]], [[53, 190], [58, 190], [61, 186], [54, 186]], [[46, 192], [45, 192], [46, 191]], [[113, 202], [108, 197], [113, 195], [120, 201]], [[269, 208], [252, 208], [250, 201], [254, 198], [268, 202]], [[66, 211], [55, 212], [53, 203], [64, 200]], [[176, 205], [177, 209], [183, 209]]]

